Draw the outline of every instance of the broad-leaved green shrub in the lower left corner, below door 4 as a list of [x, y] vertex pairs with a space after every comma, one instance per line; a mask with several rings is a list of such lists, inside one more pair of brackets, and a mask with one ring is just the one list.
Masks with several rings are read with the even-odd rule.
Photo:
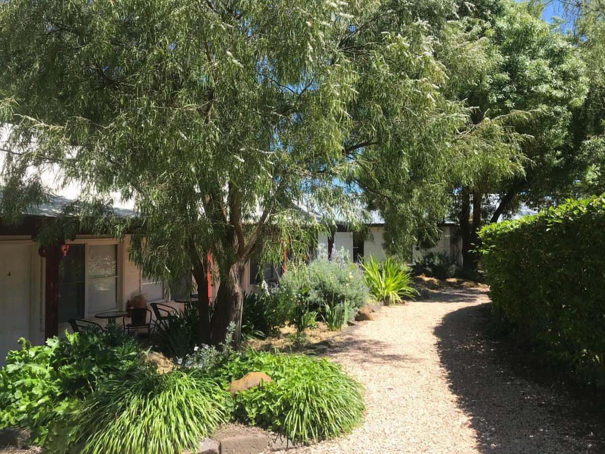
[[67, 334], [43, 346], [20, 339], [0, 369], [0, 427], [27, 427], [43, 444], [57, 416], [107, 380], [126, 380], [144, 366], [136, 342], [117, 333]]

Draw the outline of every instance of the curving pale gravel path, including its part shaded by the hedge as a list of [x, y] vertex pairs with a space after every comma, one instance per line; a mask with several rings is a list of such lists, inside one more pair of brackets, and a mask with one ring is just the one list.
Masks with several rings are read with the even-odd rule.
[[296, 453], [603, 452], [561, 416], [559, 396], [495, 355], [482, 331], [487, 301], [479, 289], [443, 291], [343, 335], [330, 358], [366, 387], [365, 423]]

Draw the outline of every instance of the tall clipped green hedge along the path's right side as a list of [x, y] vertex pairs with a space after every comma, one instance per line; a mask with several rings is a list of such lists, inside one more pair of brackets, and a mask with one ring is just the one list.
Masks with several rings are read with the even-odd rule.
[[494, 314], [584, 380], [605, 384], [605, 199], [485, 226]]

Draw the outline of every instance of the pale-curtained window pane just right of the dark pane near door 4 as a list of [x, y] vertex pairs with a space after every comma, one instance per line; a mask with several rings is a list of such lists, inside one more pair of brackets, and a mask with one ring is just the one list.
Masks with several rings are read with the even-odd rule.
[[88, 313], [117, 309], [117, 245], [88, 246]]

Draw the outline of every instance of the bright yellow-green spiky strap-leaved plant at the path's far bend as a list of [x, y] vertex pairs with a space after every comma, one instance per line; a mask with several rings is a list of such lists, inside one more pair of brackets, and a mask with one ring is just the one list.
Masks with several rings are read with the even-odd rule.
[[414, 298], [418, 295], [411, 286], [412, 276], [407, 266], [391, 257], [376, 262], [370, 256], [362, 263], [364, 280], [374, 298], [385, 304], [401, 303], [403, 297]]

